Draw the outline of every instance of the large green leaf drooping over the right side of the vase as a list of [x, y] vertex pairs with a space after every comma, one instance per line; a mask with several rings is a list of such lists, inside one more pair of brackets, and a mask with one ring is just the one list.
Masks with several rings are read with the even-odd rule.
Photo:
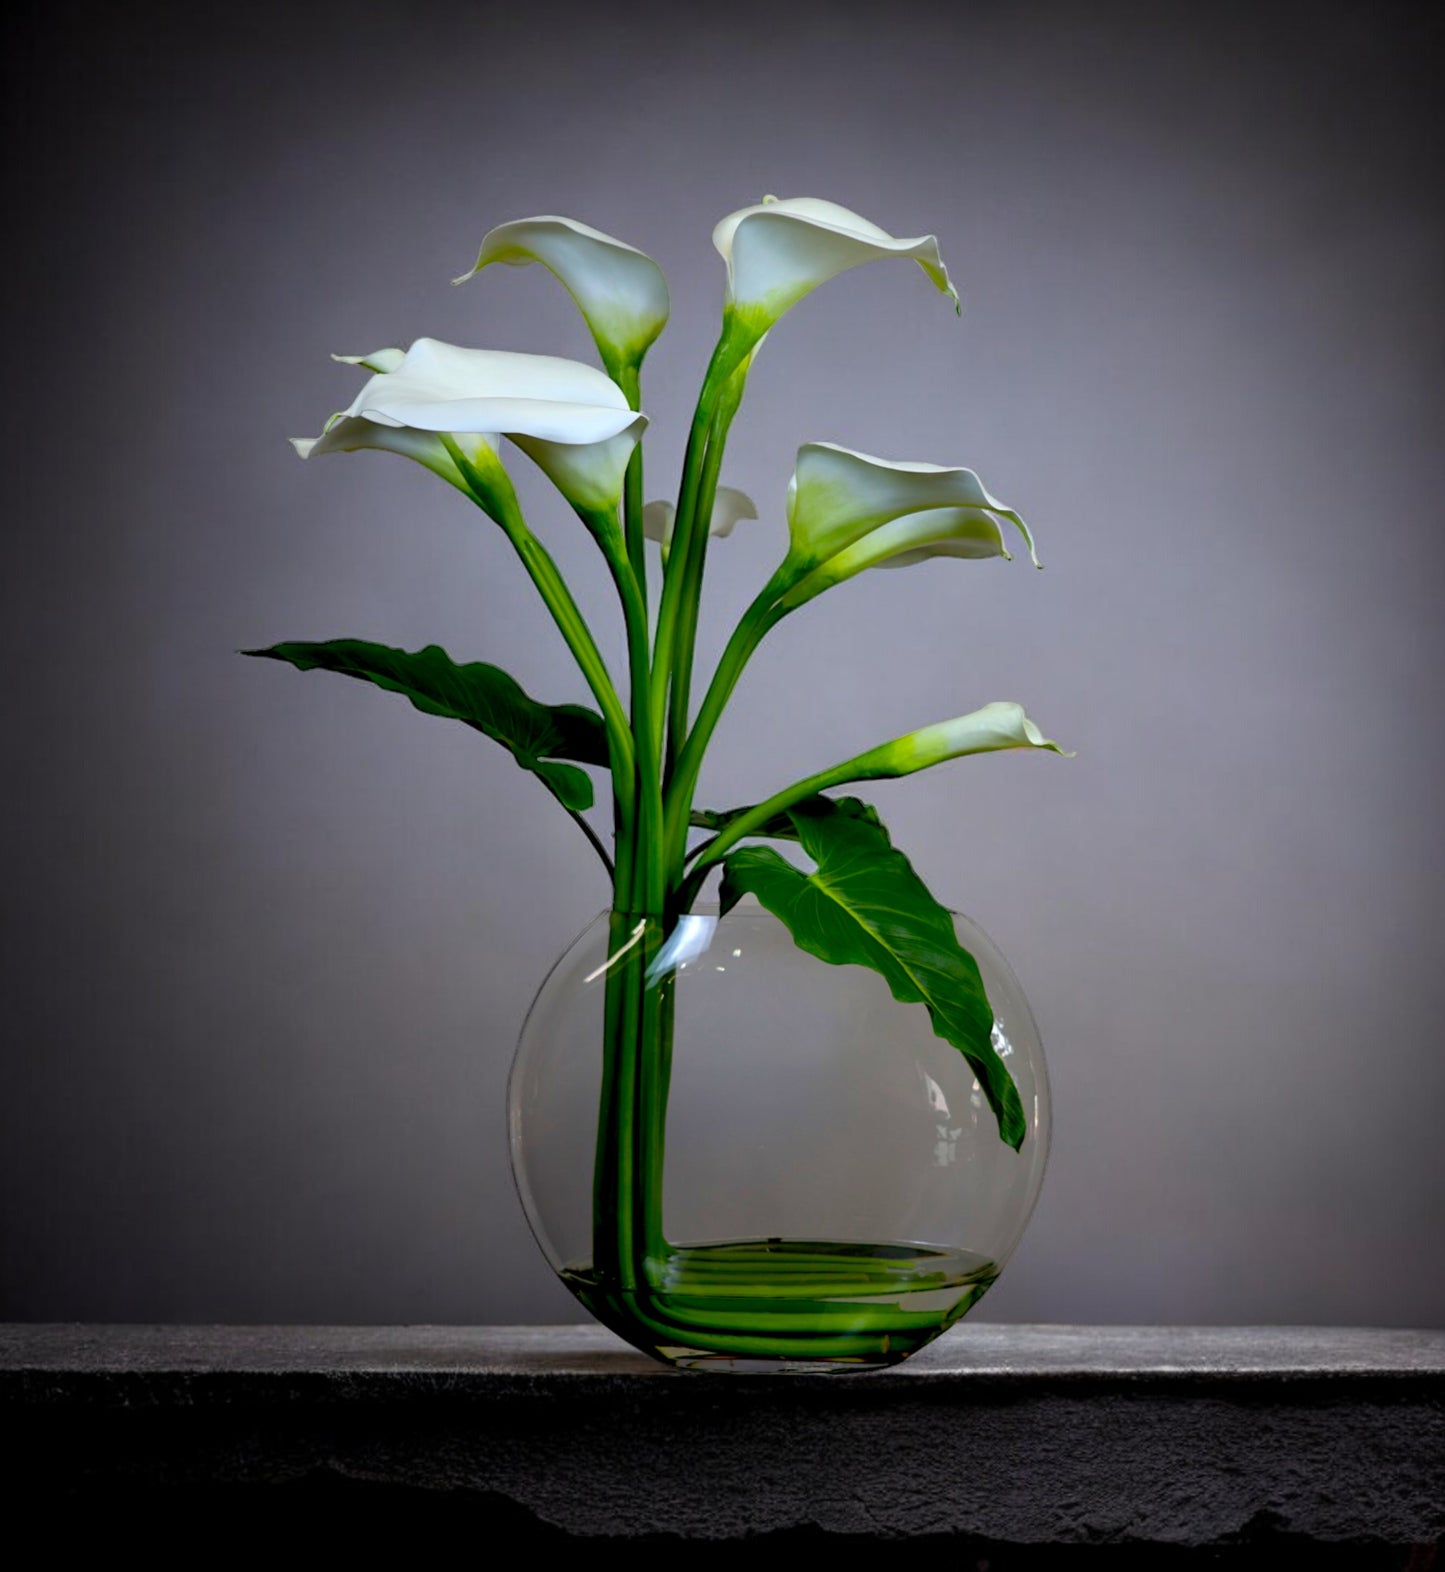
[[723, 909], [755, 894], [800, 949], [830, 965], [871, 967], [895, 998], [925, 1005], [934, 1031], [969, 1061], [998, 1133], [1017, 1151], [1027, 1129], [1024, 1105], [994, 1049], [994, 1009], [978, 964], [873, 810], [855, 808], [818, 795], [788, 811], [796, 838], [818, 865], [811, 874], [769, 846], [730, 852]]

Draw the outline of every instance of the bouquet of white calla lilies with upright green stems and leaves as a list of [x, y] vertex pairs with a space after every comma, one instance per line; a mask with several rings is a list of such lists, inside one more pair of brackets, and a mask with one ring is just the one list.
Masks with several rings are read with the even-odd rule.
[[[480, 508], [514, 547], [594, 707], [542, 704], [497, 667], [459, 663], [437, 646], [404, 651], [335, 638], [247, 651], [401, 693], [417, 709], [502, 744], [577, 821], [602, 860], [612, 880], [612, 940], [591, 1265], [596, 1283], [632, 1295], [634, 1308], [668, 1253], [660, 1188], [673, 1020], [667, 987], [654, 986], [656, 962], [714, 871], [722, 874], [725, 912], [752, 894], [802, 949], [830, 964], [870, 967], [895, 998], [921, 1003], [937, 1036], [967, 1060], [1000, 1138], [1020, 1146], [1027, 1121], [991, 1038], [994, 1016], [973, 956], [876, 810], [836, 792], [969, 755], [1061, 751], [1019, 704], [991, 703], [781, 784], [756, 803], [722, 811], [698, 805], [719, 718], [748, 659], [783, 618], [866, 569], [1006, 558], [1008, 534], [1038, 561], [1024, 519], [973, 470], [805, 443], [786, 490], [783, 560], [706, 685], [695, 682], [709, 541], [756, 517], [745, 495], [722, 484], [722, 470], [766, 335], [829, 278], [881, 259], [912, 261], [958, 308], [932, 236], [896, 239], [829, 201], [769, 198], [730, 214], [712, 237], [726, 264], [722, 329], [673, 500], [643, 501], [642, 448], [642, 368], [668, 321], [667, 283], [643, 252], [572, 219], [524, 219], [492, 230], [464, 278], [494, 264], [549, 269], [582, 313], [602, 369], [431, 338], [406, 351], [340, 355], [370, 373], [368, 380], [319, 437], [294, 443], [302, 457], [399, 453]], [[513, 450], [542, 470], [602, 552], [626, 629], [626, 682], [609, 670], [557, 563], [522, 516]], [[659, 574], [654, 616], [649, 578]], [[610, 844], [583, 817], [594, 803], [590, 769], [610, 778]], [[792, 843], [811, 868], [769, 843]], [[605, 1319], [605, 1309], [599, 1313]]]

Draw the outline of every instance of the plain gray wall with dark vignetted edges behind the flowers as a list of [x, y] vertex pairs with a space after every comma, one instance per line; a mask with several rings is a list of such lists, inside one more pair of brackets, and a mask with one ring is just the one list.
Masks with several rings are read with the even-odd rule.
[[[1428, 1324], [1442, 349], [1423, 8], [313, 3], [22, 13], [6, 132], [0, 1314], [568, 1319], [502, 1097], [605, 890], [502, 756], [236, 659], [352, 634], [580, 696], [505, 542], [420, 470], [300, 465], [329, 351], [588, 354], [564, 212], [649, 250], [671, 481], [712, 222], [763, 192], [936, 231], [962, 324], [862, 269], [772, 336], [704, 651], [796, 445], [967, 462], [1024, 564], [794, 619], [709, 797], [1020, 698], [1072, 762], [879, 791], [1035, 1001], [1057, 1144], [980, 1314]], [[590, 604], [601, 574], [535, 498]]]

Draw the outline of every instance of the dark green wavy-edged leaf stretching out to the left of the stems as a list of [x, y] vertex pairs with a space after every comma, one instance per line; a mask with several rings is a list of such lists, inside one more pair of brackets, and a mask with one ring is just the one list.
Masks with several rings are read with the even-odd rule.
[[459, 720], [511, 751], [524, 770], [572, 813], [593, 805], [591, 778], [574, 764], [609, 764], [607, 728], [585, 704], [539, 704], [498, 667], [473, 660], [459, 667], [439, 645], [393, 649], [360, 638], [272, 645], [244, 656], [288, 660], [299, 671], [340, 671], [388, 693], [403, 693], [426, 715]]

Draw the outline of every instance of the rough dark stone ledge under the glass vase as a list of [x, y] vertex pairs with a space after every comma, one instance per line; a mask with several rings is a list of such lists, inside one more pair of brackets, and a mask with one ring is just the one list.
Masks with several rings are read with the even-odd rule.
[[340, 1490], [509, 1534], [995, 1552], [1445, 1534], [1428, 1331], [976, 1324], [836, 1377], [681, 1374], [599, 1327], [31, 1325], [0, 1328], [0, 1404], [11, 1501]]

